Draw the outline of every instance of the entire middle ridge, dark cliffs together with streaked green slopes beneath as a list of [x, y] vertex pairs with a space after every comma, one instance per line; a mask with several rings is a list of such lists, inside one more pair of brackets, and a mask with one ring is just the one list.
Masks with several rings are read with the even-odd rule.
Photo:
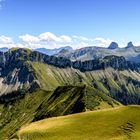
[[[12, 49], [0, 55], [0, 94], [37, 88], [47, 91], [58, 86], [86, 84], [123, 104], [140, 102], [140, 63], [123, 57], [71, 62], [28, 49]], [[131, 98], [129, 98], [131, 97]]]

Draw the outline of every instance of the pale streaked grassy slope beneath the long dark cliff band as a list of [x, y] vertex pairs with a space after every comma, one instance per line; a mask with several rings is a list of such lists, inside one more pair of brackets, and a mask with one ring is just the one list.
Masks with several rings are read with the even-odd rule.
[[63, 85], [86, 84], [93, 86], [117, 101], [139, 104], [140, 73], [131, 70], [118, 71], [112, 68], [81, 72], [73, 68], [57, 68], [51, 65], [29, 62], [41, 88], [54, 90]]

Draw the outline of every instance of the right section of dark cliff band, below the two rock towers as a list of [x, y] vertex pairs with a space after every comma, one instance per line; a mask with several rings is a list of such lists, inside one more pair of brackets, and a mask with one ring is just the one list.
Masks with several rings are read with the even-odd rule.
[[81, 71], [101, 70], [112, 67], [118, 70], [140, 70], [140, 63], [133, 63], [126, 61], [124, 57], [107, 56], [104, 59], [90, 60], [90, 61], [75, 61], [72, 63], [73, 67]]

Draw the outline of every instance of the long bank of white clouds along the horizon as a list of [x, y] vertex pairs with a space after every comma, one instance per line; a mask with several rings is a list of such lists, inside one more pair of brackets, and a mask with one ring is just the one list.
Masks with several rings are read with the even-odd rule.
[[62, 46], [71, 46], [74, 49], [88, 47], [88, 46], [99, 46], [107, 47], [112, 40], [105, 39], [102, 37], [88, 38], [85, 36], [68, 36], [68, 35], [56, 35], [51, 32], [41, 33], [38, 36], [25, 34], [19, 36], [19, 41], [14, 42], [11, 37], [0, 36], [0, 47], [19, 47], [19, 48], [48, 48], [54, 49]]

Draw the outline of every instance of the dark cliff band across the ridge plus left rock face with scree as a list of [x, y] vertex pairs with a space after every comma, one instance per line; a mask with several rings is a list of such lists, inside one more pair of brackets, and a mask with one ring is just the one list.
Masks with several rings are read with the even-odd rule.
[[61, 69], [71, 68], [72, 71], [76, 69], [81, 72], [105, 70], [109, 67], [118, 71], [140, 71], [139, 63], [126, 61], [122, 56], [106, 56], [103, 59], [72, 62], [63, 57], [48, 56], [28, 49], [15, 49], [5, 53], [0, 52], [0, 94], [18, 89], [31, 91], [40, 87], [42, 83], [37, 78], [37, 72], [28, 62], [44, 63]]

